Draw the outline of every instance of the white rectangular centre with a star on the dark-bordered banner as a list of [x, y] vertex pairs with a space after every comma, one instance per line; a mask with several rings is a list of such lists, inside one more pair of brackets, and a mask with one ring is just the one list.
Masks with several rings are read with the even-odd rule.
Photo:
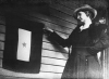
[[17, 60], [29, 62], [32, 31], [19, 28]]

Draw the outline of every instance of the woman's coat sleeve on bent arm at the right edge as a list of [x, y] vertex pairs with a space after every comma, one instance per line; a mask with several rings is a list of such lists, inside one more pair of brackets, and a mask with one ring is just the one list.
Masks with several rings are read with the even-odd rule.
[[96, 43], [94, 43], [94, 45], [88, 47], [87, 51], [90, 54], [96, 54], [99, 51], [107, 49], [108, 47], [109, 47], [109, 36], [107, 35], [107, 32], [102, 31], [99, 40]]

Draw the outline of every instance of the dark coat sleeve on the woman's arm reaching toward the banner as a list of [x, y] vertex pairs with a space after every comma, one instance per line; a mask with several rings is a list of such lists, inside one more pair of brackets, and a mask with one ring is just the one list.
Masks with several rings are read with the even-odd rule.
[[63, 48], [68, 47], [70, 48], [73, 42], [75, 42], [74, 37], [76, 37], [76, 32], [80, 30], [80, 26], [76, 26], [76, 28], [71, 32], [68, 39], [61, 38], [57, 32], [51, 32], [49, 38], [58, 42]]

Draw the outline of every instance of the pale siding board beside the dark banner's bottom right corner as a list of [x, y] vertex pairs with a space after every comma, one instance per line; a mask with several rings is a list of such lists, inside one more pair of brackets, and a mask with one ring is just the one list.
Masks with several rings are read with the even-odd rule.
[[52, 65], [44, 65], [41, 64], [41, 71], [51, 71], [51, 73], [63, 73], [64, 67], [52, 66]]

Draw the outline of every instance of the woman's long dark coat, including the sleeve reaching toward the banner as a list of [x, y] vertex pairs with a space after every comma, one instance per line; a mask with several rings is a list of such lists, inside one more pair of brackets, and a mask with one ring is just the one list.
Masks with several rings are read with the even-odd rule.
[[101, 78], [101, 68], [96, 54], [109, 47], [107, 26], [92, 24], [89, 28], [80, 30], [77, 26], [68, 39], [62, 39], [56, 32], [50, 38], [62, 47], [71, 47], [72, 52], [64, 67], [62, 78], [94, 79]]

